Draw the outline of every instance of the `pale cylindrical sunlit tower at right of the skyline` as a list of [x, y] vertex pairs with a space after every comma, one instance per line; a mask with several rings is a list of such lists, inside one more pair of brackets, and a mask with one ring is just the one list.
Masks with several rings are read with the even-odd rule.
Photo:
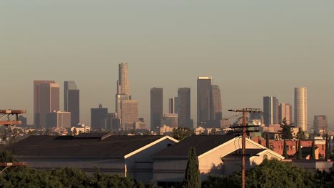
[[308, 93], [307, 88], [295, 88], [295, 126], [308, 132]]

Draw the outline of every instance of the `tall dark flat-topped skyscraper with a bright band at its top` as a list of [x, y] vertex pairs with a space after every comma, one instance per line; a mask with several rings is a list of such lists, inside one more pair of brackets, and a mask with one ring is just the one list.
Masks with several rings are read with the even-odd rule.
[[207, 127], [210, 120], [210, 90], [212, 77], [197, 79], [197, 126]]

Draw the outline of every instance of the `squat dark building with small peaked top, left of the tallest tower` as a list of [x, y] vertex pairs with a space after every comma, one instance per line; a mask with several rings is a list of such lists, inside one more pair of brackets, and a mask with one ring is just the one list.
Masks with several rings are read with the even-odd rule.
[[91, 129], [107, 130], [108, 108], [103, 108], [100, 104], [98, 108], [91, 108]]

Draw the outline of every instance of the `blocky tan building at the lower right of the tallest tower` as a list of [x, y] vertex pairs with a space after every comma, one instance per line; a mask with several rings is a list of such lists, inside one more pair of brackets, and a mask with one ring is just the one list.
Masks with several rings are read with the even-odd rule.
[[123, 100], [121, 127], [124, 130], [133, 129], [133, 124], [138, 120], [137, 100]]

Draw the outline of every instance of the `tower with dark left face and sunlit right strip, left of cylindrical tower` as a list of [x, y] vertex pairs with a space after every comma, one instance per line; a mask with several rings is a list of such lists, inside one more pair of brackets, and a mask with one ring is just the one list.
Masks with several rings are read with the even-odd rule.
[[263, 97], [263, 120], [265, 126], [278, 124], [278, 100], [273, 96]]

